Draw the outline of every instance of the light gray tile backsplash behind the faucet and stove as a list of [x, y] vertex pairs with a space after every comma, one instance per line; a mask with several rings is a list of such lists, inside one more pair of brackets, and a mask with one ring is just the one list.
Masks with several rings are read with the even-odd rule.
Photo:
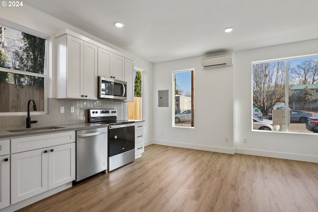
[[[64, 107], [64, 113], [60, 113], [60, 107]], [[74, 107], [74, 113], [71, 113]], [[31, 114], [31, 120], [38, 122], [32, 127], [52, 126], [64, 124], [76, 124], [87, 122], [87, 109], [93, 108], [117, 108], [117, 119], [124, 119], [124, 103], [107, 100], [65, 100], [48, 98], [48, 114]], [[0, 116], [0, 130], [25, 128], [26, 115], [20, 116]]]

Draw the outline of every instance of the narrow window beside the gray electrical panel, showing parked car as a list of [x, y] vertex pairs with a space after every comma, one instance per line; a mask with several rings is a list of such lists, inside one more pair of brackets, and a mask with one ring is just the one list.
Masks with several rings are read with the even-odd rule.
[[173, 71], [175, 127], [194, 127], [194, 70]]

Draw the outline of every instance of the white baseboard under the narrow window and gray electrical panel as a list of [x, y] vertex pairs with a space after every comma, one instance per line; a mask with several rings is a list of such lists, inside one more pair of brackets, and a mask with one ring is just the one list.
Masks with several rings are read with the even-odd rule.
[[203, 151], [213, 151], [213, 152], [220, 152], [220, 153], [227, 153], [227, 154], [234, 154], [234, 152], [235, 152], [234, 148], [198, 145], [198, 144], [193, 144], [193, 143], [181, 143], [181, 142], [160, 141], [160, 140], [153, 140], [153, 141], [145, 142], [145, 146], [150, 145], [150, 144], [159, 144], [159, 145], [174, 146], [174, 147], [181, 147], [181, 148], [190, 148], [190, 149], [197, 149], [197, 150], [203, 150]]

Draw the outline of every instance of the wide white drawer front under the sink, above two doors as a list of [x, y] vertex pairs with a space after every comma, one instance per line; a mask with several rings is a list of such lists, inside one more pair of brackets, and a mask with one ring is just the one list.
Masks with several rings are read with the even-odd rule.
[[75, 142], [75, 131], [11, 139], [11, 153]]

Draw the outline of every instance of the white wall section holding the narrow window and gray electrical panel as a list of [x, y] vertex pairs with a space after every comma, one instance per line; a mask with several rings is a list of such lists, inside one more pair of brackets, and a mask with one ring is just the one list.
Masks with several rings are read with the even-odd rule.
[[[233, 66], [203, 70], [203, 57], [154, 65], [154, 143], [234, 153]], [[172, 127], [172, 71], [195, 69], [194, 129]], [[158, 107], [158, 90], [169, 90], [169, 107]], [[229, 142], [225, 142], [229, 138]]]

